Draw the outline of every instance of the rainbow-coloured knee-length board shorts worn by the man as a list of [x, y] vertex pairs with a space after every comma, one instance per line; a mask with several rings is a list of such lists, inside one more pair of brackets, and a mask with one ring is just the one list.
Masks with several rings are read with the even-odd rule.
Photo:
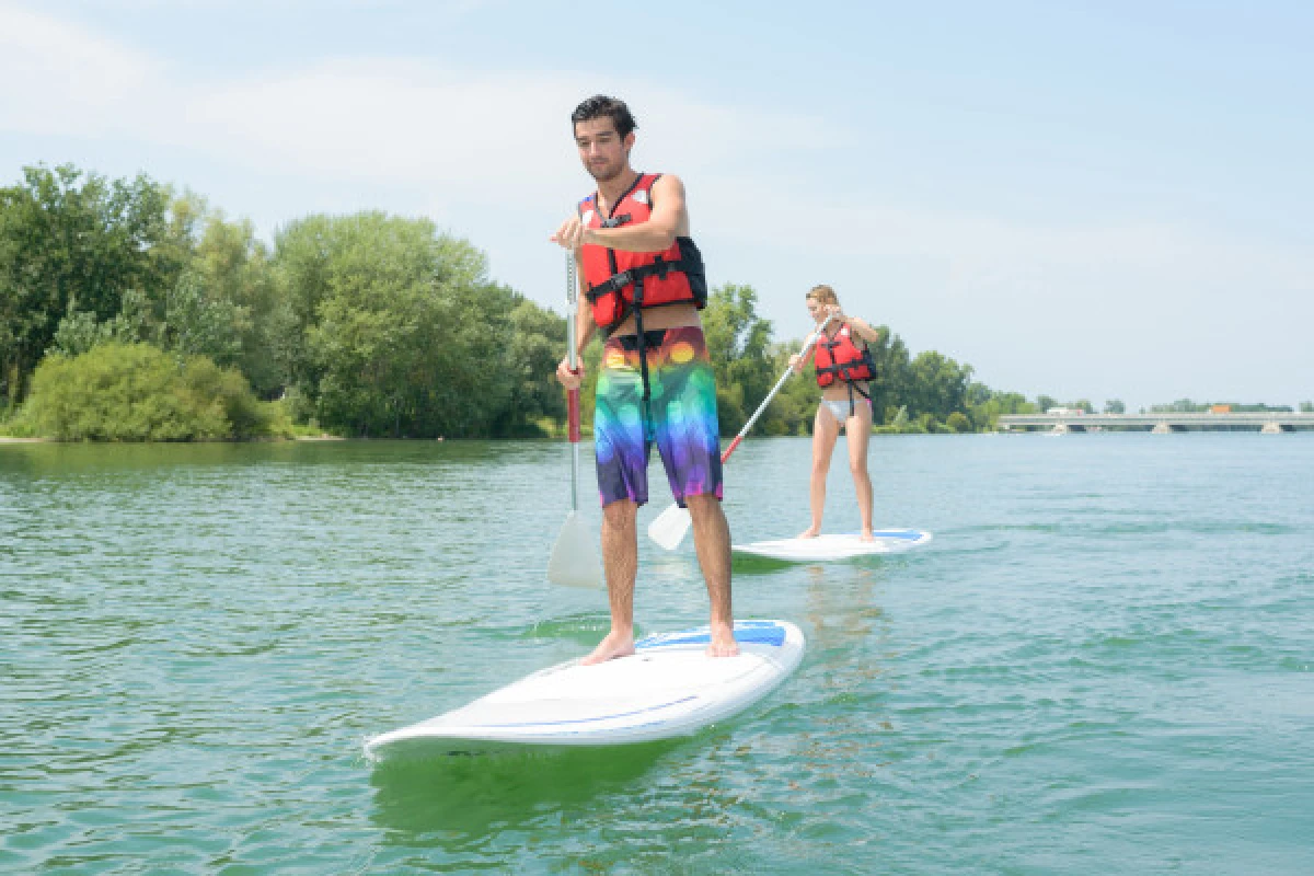
[[636, 336], [611, 338], [603, 348], [593, 419], [602, 504], [648, 502], [648, 454], [653, 443], [675, 502], [683, 507], [685, 496], [706, 494], [720, 499], [716, 378], [703, 330], [683, 326], [649, 331], [644, 338], [652, 391], [649, 423]]

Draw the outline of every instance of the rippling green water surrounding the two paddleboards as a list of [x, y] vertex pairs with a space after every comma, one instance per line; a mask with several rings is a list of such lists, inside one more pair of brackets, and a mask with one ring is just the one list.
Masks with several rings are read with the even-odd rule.
[[[936, 540], [741, 569], [809, 645], [740, 720], [372, 767], [600, 636], [544, 582], [568, 458], [0, 447], [0, 871], [1314, 872], [1314, 436], [878, 439], [876, 523]], [[807, 525], [808, 464], [740, 449], [736, 540]], [[641, 632], [703, 623], [687, 545], [641, 559]]]

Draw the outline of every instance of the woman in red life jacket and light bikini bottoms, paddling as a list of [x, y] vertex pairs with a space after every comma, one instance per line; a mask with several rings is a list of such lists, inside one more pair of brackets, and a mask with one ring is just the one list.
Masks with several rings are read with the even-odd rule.
[[830, 322], [807, 357], [795, 355], [790, 359], [794, 369], [802, 372], [804, 361], [815, 357], [817, 385], [821, 387], [821, 405], [812, 427], [812, 525], [799, 537], [815, 538], [821, 533], [825, 478], [830, 471], [836, 439], [844, 428], [849, 433], [849, 470], [858, 490], [862, 540], [871, 541], [871, 477], [867, 474], [871, 393], [867, 382], [876, 376], [876, 366], [867, 345], [880, 340], [880, 332], [866, 319], [845, 315], [830, 286], [815, 286], [807, 294], [807, 302], [808, 313], [819, 326], [828, 317]]

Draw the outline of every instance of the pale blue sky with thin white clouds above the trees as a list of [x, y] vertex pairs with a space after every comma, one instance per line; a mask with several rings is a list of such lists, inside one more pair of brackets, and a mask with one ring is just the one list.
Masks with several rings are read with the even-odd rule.
[[569, 114], [608, 93], [778, 339], [827, 282], [996, 390], [1294, 406], [1310, 46], [1303, 1], [0, 0], [0, 185], [145, 172], [267, 240], [428, 217], [564, 313]]

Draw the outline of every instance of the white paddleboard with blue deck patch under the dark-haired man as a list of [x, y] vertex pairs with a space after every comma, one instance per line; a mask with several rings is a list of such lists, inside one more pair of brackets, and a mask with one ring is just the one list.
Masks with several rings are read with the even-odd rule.
[[469, 705], [365, 742], [371, 759], [516, 746], [628, 745], [728, 718], [770, 693], [803, 659], [798, 626], [735, 624], [736, 657], [708, 657], [706, 626], [649, 636], [635, 654], [540, 670]]

